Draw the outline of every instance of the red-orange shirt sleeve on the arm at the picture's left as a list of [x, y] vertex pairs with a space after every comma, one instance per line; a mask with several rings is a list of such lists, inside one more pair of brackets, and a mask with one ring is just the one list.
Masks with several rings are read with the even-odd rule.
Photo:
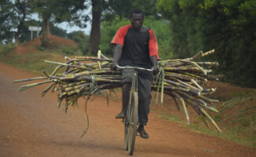
[[131, 25], [126, 25], [119, 28], [119, 31], [115, 34], [115, 37], [112, 39], [112, 45], [121, 44], [123, 46], [124, 37], [126, 36], [127, 31], [130, 29]]

